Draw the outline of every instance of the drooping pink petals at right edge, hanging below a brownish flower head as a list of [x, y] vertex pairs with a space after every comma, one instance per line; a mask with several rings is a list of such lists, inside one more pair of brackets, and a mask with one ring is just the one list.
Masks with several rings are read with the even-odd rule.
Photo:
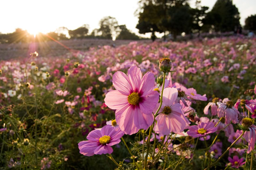
[[249, 143], [247, 153], [250, 153], [250, 151], [254, 150], [254, 145], [256, 142], [256, 126], [252, 124], [248, 129], [249, 131], [245, 131], [243, 136], [246, 142]]

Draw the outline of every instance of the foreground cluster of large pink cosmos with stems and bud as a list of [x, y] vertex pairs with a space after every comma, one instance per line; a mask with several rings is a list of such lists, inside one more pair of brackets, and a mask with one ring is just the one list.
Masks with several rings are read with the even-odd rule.
[[[88, 141], [81, 141], [78, 144], [81, 154], [85, 156], [111, 154], [113, 152], [111, 146], [118, 144], [124, 134], [132, 135], [141, 129], [146, 131], [149, 129], [148, 138], [150, 138], [151, 133], [154, 131], [152, 136], [157, 134], [160, 137], [171, 137], [172, 134], [181, 134], [183, 136], [187, 134], [192, 138], [198, 138], [202, 141], [209, 140], [212, 133], [216, 132], [218, 134], [220, 131], [225, 131], [225, 135], [229, 137], [228, 141], [232, 142], [231, 146], [236, 144], [236, 142], [237, 144], [241, 143], [241, 137], [243, 137], [248, 142], [247, 153], [254, 150], [256, 126], [252, 118], [255, 118], [256, 115], [256, 99], [239, 99], [233, 105], [232, 101], [228, 98], [223, 100], [214, 98], [213, 102], [209, 102], [204, 108], [204, 114], [211, 114], [211, 119], [207, 117], [198, 118], [197, 115], [194, 117], [195, 109], [191, 107], [191, 103], [197, 100], [206, 101], [207, 97], [197, 94], [194, 88], [187, 89], [178, 83], [173, 84], [170, 79], [170, 73], [166, 78], [166, 73], [171, 68], [170, 59], [164, 58], [159, 62], [160, 70], [164, 72], [164, 81], [162, 88], [160, 88], [162, 90], [159, 90], [157, 87], [153, 73], [147, 72], [142, 77], [141, 69], [136, 66], [129, 68], [127, 75], [123, 72], [115, 72], [113, 75], [113, 86], [116, 90], [108, 92], [105, 98], [105, 104], [115, 110], [115, 127], [106, 125], [102, 129], [91, 131], [87, 137]], [[254, 93], [256, 94], [256, 85]], [[239, 106], [243, 109], [244, 107], [247, 108], [248, 113], [251, 112], [252, 115], [249, 116], [245, 112], [240, 113], [237, 110]], [[210, 111], [209, 107], [211, 107]], [[219, 119], [213, 118], [213, 116], [217, 116]], [[196, 125], [189, 125], [191, 124], [189, 120]], [[232, 123], [241, 124], [242, 130], [234, 132]], [[184, 130], [187, 132], [184, 132]], [[154, 141], [154, 138], [157, 137], [150, 138], [146, 142], [145, 140], [141, 141], [141, 143], [147, 143], [150, 146], [150, 141]], [[238, 142], [238, 140], [240, 141]], [[170, 140], [168, 145], [168, 150], [174, 150], [172, 140]], [[190, 154], [187, 153], [186, 155], [188, 158], [193, 157], [191, 150], [195, 147], [194, 145], [191, 146]], [[206, 169], [214, 166], [230, 149], [229, 147], [222, 154], [222, 142], [216, 142], [215, 144], [213, 142], [210, 148], [207, 145], [206, 147], [206, 150], [208, 152], [211, 151], [214, 158], [217, 159], [214, 163], [209, 163]], [[148, 150], [150, 149], [147, 148], [144, 168], [148, 167]], [[154, 153], [156, 155], [158, 153], [161, 154], [159, 152], [161, 148], [155, 148], [155, 150], [152, 151], [151, 156]], [[176, 151], [176, 154], [181, 155], [180, 152], [181, 150]], [[133, 156], [132, 153], [131, 155]], [[115, 162], [113, 157], [111, 159]], [[211, 158], [209, 159], [211, 162]], [[153, 161], [155, 161], [154, 158]], [[239, 159], [237, 156], [229, 157], [229, 162], [231, 165], [227, 166], [236, 168], [245, 163], [243, 158]], [[121, 167], [121, 165], [117, 165]]]

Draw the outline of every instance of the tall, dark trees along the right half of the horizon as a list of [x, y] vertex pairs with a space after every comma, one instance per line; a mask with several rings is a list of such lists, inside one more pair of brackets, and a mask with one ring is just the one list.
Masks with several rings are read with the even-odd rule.
[[[232, 0], [217, 0], [211, 11], [201, 6], [197, 0], [195, 8], [190, 7], [189, 0], [140, 0], [136, 11], [139, 33], [171, 33], [175, 39], [181, 33], [236, 32], [242, 29], [240, 13]], [[256, 15], [245, 21], [245, 29], [256, 30]]]

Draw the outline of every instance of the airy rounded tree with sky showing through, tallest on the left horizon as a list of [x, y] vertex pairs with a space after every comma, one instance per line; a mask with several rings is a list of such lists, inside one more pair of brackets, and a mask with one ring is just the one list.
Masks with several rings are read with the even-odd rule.
[[118, 22], [114, 17], [108, 16], [100, 20], [98, 32], [104, 39], [113, 39], [117, 36]]

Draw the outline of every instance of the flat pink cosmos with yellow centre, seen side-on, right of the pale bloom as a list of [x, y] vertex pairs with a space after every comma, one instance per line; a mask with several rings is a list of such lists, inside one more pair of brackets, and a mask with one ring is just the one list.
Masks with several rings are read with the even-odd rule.
[[191, 137], [205, 137], [206, 135], [208, 135], [210, 133], [214, 133], [216, 131], [217, 131], [217, 128], [214, 127], [213, 123], [201, 122], [198, 125], [190, 126], [189, 131], [187, 131], [187, 133]]

